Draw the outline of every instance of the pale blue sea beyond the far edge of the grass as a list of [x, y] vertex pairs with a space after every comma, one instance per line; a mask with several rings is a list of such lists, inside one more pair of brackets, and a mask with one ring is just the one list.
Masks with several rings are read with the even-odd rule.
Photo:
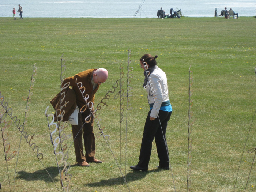
[[157, 10], [170, 14], [180, 10], [185, 17], [213, 17], [224, 7], [241, 16], [256, 15], [256, 0], [0, 0], [0, 17], [12, 17], [13, 8], [23, 17], [57, 18], [157, 18]]

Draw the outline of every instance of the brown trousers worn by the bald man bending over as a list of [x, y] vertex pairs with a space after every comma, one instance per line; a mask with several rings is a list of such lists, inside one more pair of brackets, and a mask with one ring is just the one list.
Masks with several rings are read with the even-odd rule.
[[[76, 162], [93, 161], [95, 157], [95, 136], [93, 133], [93, 118], [89, 123], [85, 123], [85, 118], [90, 114], [90, 110], [78, 113], [78, 125], [72, 125]], [[85, 155], [83, 153], [83, 140]]]

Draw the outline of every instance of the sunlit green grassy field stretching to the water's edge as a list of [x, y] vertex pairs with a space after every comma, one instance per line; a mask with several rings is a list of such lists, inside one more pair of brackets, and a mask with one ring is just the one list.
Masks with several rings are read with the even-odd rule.
[[[240, 166], [235, 191], [245, 190], [255, 155], [247, 151], [256, 147], [253, 121], [256, 109], [256, 18], [0, 18], [0, 26], [0, 91], [4, 102], [3, 98], [0, 101], [8, 102], [12, 116], [16, 115], [23, 123], [26, 101], [22, 97], [29, 93], [36, 63], [37, 73], [24, 130], [30, 136], [34, 134], [31, 140], [44, 154], [40, 162], [22, 138], [16, 167], [17, 155], [5, 162], [1, 140], [1, 191], [10, 191], [10, 188], [11, 191], [62, 190], [45, 117], [47, 106], [48, 114], [53, 112], [49, 101], [60, 91], [61, 55], [64, 53], [66, 69], [63, 75], [66, 77], [90, 68], [108, 69], [109, 78], [96, 94], [97, 105], [119, 79], [121, 63], [124, 68], [122, 88], [127, 91], [128, 50], [133, 67], [130, 72], [133, 95], [129, 97], [133, 109], [128, 110], [127, 125], [126, 111], [125, 121], [119, 124], [119, 98], [114, 99], [117, 90], [110, 94], [108, 106], [101, 109], [98, 117], [100, 126], [105, 127], [104, 133], [110, 136], [109, 146], [99, 137], [96, 124], [94, 127], [96, 158], [103, 163], [91, 163], [86, 168], [75, 166], [72, 139], [63, 142], [70, 146], [67, 160], [71, 163], [68, 173], [72, 174], [69, 191], [174, 191], [174, 184], [176, 191], [187, 190], [190, 66], [193, 72], [192, 120], [196, 118], [191, 134], [190, 188], [192, 191], [233, 191]], [[144, 76], [139, 67], [139, 59], [146, 53], [158, 55], [158, 66], [168, 78], [173, 113], [166, 137], [172, 172], [157, 170], [155, 144], [148, 172], [129, 169], [138, 163], [148, 112], [146, 91], [142, 88]], [[1, 106], [0, 112], [2, 109]], [[8, 122], [10, 117], [5, 120]], [[3, 127], [4, 123], [1, 129]], [[19, 149], [21, 134], [14, 123], [6, 127], [4, 138], [7, 139], [5, 144], [10, 144], [9, 155]], [[71, 126], [64, 132], [71, 134]], [[253, 165], [247, 191], [256, 191], [255, 172]]]

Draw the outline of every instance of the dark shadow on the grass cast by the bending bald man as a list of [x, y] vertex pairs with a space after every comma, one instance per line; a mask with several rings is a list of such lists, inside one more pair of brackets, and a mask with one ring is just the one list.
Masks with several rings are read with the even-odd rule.
[[[19, 171], [17, 172], [19, 176], [16, 177], [16, 179], [24, 179], [26, 181], [44, 180], [45, 182], [56, 182], [60, 180], [58, 167], [51, 166], [51, 167], [46, 167], [46, 169], [50, 174], [50, 176], [52, 177], [52, 179], [50, 178], [50, 176], [48, 175], [45, 169], [40, 169], [33, 173], [29, 173], [26, 171]], [[57, 176], [59, 177], [55, 178]]]

